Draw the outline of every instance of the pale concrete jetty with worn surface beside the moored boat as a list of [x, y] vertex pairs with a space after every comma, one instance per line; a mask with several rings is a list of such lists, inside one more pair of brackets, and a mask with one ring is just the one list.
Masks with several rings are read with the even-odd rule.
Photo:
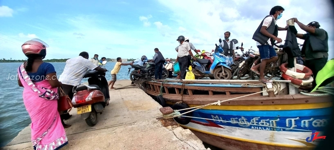
[[[118, 80], [115, 87], [130, 85], [130, 80]], [[72, 126], [65, 129], [68, 144], [61, 149], [117, 150], [207, 150], [190, 130], [178, 125], [163, 127], [159, 108], [162, 106], [136, 86], [110, 90], [111, 100], [103, 114], [98, 114], [94, 127], [76, 114], [65, 120]], [[33, 150], [30, 125], [9, 142], [4, 150]], [[209, 149], [209, 148], [208, 148]]]

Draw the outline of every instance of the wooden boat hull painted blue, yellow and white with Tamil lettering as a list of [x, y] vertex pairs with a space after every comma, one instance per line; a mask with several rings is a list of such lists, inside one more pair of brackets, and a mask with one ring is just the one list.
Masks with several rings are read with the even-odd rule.
[[[163, 107], [174, 110], [265, 90], [206, 106], [174, 120], [203, 142], [224, 150], [313, 149], [319, 140], [326, 140], [323, 131], [332, 114], [331, 96], [293, 93], [290, 82], [274, 80], [272, 85], [264, 85], [258, 80], [168, 79], [143, 82], [141, 89]], [[267, 92], [269, 86], [274, 91]]]

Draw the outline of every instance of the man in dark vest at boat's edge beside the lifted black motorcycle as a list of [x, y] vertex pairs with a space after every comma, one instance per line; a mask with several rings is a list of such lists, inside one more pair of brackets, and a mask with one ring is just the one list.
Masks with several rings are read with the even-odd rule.
[[155, 64], [155, 70], [154, 70], [154, 79], [161, 79], [162, 76], [162, 69], [165, 63], [165, 58], [162, 56], [161, 52], [158, 48], [154, 49], [155, 55], [153, 57], [153, 61]]

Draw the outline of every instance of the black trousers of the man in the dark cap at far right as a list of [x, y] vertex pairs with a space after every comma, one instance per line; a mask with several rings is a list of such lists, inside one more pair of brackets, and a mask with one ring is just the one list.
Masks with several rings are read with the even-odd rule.
[[310, 59], [305, 61], [305, 66], [310, 68], [313, 73], [313, 82], [312, 88], [315, 88], [317, 85], [315, 82], [315, 78], [317, 77], [318, 72], [326, 65], [328, 58], [317, 58], [317, 59]]

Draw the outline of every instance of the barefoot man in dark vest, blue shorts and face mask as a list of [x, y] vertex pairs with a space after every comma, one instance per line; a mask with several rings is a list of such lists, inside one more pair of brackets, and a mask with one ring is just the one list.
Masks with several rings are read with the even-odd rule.
[[278, 31], [284, 31], [288, 28], [281, 28], [276, 25], [276, 21], [282, 17], [283, 11], [284, 8], [282, 6], [273, 7], [270, 10], [269, 15], [262, 20], [252, 38], [257, 41], [257, 47], [259, 48], [261, 56], [261, 63], [251, 68], [251, 70], [256, 74], [259, 74], [260, 81], [264, 83], [272, 82], [264, 77], [264, 70], [267, 64], [278, 59], [276, 51], [273, 47], [275, 41], [282, 42], [282, 39], [277, 37]]

